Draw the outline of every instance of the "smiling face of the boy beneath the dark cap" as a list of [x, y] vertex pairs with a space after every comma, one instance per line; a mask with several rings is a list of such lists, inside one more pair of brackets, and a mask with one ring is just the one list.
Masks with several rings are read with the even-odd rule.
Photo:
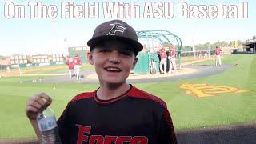
[[90, 64], [95, 66], [99, 81], [108, 84], [126, 83], [137, 58], [126, 43], [110, 40], [96, 46], [87, 54]]

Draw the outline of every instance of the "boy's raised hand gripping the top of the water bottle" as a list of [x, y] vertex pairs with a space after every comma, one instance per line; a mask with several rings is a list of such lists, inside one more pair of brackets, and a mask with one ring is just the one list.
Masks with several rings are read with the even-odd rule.
[[26, 116], [30, 120], [35, 120], [38, 113], [46, 109], [51, 103], [51, 98], [45, 93], [36, 94], [30, 98], [26, 104]]

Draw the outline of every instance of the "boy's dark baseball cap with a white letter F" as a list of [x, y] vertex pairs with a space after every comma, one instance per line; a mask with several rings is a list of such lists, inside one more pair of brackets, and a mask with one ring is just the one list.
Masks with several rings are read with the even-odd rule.
[[87, 42], [87, 45], [92, 50], [96, 44], [108, 39], [118, 39], [127, 42], [134, 48], [135, 55], [143, 49], [142, 44], [138, 42], [138, 36], [134, 28], [121, 20], [112, 20], [98, 25], [94, 30], [93, 37]]

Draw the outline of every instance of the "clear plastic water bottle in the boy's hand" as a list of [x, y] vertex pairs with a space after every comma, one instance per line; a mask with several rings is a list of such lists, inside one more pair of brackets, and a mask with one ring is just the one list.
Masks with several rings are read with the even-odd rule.
[[38, 114], [38, 128], [41, 133], [42, 144], [61, 144], [61, 138], [58, 134], [58, 126], [54, 111], [50, 106]]

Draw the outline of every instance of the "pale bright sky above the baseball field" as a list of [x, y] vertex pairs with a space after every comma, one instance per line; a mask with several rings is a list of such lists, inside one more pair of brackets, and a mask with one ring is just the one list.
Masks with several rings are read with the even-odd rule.
[[[199, 6], [218, 6], [218, 2], [222, 2], [224, 6], [237, 6], [238, 2], [245, 1], [216, 1], [216, 0], [190, 0], [190, 1], [84, 1], [84, 0], [68, 0], [65, 2], [73, 2], [74, 5], [84, 6], [85, 2], [94, 5], [98, 2], [99, 10], [97, 18], [62, 18], [62, 1], [44, 0], [42, 5], [47, 7], [56, 6], [55, 18], [30, 18], [33, 12], [29, 2], [32, 0], [1, 0], [0, 1], [0, 55], [8, 56], [10, 54], [67, 54], [67, 47], [70, 46], [86, 46], [86, 42], [92, 37], [94, 29], [98, 24], [112, 19], [121, 19], [134, 27], [134, 30], [168, 30], [172, 34], [177, 35], [182, 40], [182, 46], [196, 45], [200, 43], [214, 43], [217, 41], [234, 41], [251, 39], [256, 35], [256, 1], [247, 2], [247, 18], [209, 18], [210, 12], [206, 18], [180, 18], [182, 7], [178, 7], [178, 3], [187, 4], [190, 9]], [[139, 6], [139, 18], [105, 18], [103, 12], [103, 3], [122, 2], [126, 4], [133, 3]], [[146, 4], [147, 2], [147, 4]], [[165, 4], [172, 2], [174, 6], [161, 7], [162, 14], [167, 14], [168, 10], [174, 12], [171, 18], [158, 18], [157, 4]], [[122, 4], [121, 3], [121, 4]], [[7, 5], [8, 4], [8, 5]], [[24, 18], [15, 18], [14, 12], [18, 10], [12, 9], [15, 6], [24, 6]], [[144, 18], [145, 6], [152, 6], [152, 10], [156, 15], [153, 18]], [[156, 7], [154, 7], [156, 6]], [[161, 5], [160, 5], [161, 6]], [[230, 8], [229, 7], [229, 8]], [[108, 7], [109, 8], [109, 7]], [[121, 10], [121, 6], [118, 7]], [[49, 10], [49, 9], [48, 9]], [[106, 9], [105, 9], [106, 10]], [[194, 10], [194, 9], [193, 9]], [[218, 9], [222, 10], [222, 9]], [[9, 11], [9, 13], [8, 13]], [[50, 11], [50, 10], [49, 10]], [[70, 12], [67, 10], [67, 12]], [[166, 12], [167, 11], [167, 12]], [[184, 10], [189, 11], [189, 10]], [[217, 11], [217, 12], [218, 12]], [[242, 11], [242, 10], [241, 10]], [[97, 12], [96, 12], [97, 13]], [[8, 15], [9, 14], [9, 15]], [[17, 13], [18, 14], [18, 13]], [[47, 13], [53, 14], [53, 13]], [[92, 14], [92, 13], [90, 13]], [[125, 14], [122, 10], [118, 14]], [[217, 13], [216, 13], [217, 14]], [[171, 15], [171, 14], [170, 14]], [[127, 16], [128, 17], [128, 16]]]

